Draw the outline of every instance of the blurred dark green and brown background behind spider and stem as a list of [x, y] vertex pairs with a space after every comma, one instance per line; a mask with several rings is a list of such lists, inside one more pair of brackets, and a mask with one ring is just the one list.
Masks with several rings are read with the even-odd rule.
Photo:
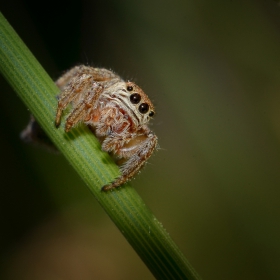
[[[154, 101], [132, 181], [203, 279], [279, 279], [280, 6], [273, 0], [3, 1], [53, 79], [115, 70]], [[1, 279], [153, 279], [62, 155], [19, 139], [1, 77]]]

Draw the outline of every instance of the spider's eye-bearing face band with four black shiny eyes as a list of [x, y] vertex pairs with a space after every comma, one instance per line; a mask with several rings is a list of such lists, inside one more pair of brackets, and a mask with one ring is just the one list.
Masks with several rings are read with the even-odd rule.
[[129, 93], [129, 103], [134, 114], [141, 124], [149, 122], [155, 114], [155, 108], [143, 90], [132, 82], [126, 83], [126, 91]]

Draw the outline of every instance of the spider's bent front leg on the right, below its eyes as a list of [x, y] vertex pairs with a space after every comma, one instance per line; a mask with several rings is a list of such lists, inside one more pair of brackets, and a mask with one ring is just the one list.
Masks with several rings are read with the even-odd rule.
[[120, 167], [121, 176], [112, 183], [103, 186], [102, 191], [119, 187], [136, 175], [156, 147], [157, 136], [152, 131], [147, 130], [146, 134], [134, 137], [130, 142], [116, 151], [116, 155], [127, 158], [127, 161]]

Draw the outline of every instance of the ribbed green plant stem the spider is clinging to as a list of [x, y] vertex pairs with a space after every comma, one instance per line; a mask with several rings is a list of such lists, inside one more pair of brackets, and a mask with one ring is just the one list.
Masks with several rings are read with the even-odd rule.
[[[157, 279], [200, 279], [136, 191], [101, 192], [119, 173], [85, 126], [54, 126], [58, 88], [0, 13], [0, 70]], [[160, 192], [160, 190], [159, 190]]]

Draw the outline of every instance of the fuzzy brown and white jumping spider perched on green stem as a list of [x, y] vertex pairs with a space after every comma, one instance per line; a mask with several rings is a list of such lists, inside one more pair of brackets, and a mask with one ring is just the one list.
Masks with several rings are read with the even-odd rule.
[[65, 131], [83, 122], [102, 143], [102, 150], [120, 159], [121, 176], [102, 187], [118, 187], [131, 179], [157, 147], [157, 136], [147, 126], [155, 109], [147, 95], [132, 82], [102, 68], [76, 66], [60, 77], [61, 89], [55, 124], [58, 127], [63, 110], [72, 104]]

